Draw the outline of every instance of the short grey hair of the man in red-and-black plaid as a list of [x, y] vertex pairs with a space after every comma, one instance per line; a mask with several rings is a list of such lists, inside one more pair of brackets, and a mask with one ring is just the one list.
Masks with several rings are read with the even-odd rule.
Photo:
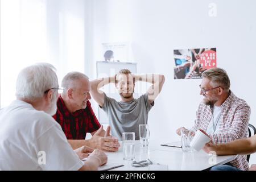
[[61, 81], [61, 86], [63, 87], [64, 91], [67, 91], [69, 88], [73, 88], [74, 81], [80, 80], [81, 78], [88, 79], [88, 76], [84, 75], [84, 73], [80, 72], [69, 72], [67, 75], [64, 76], [63, 80]]

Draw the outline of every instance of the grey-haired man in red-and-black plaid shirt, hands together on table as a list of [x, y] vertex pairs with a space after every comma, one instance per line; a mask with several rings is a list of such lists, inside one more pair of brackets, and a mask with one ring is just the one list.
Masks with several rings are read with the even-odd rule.
[[[110, 136], [109, 126], [104, 131], [92, 110], [88, 77], [80, 72], [70, 72], [63, 78], [61, 86], [63, 93], [59, 95], [53, 118], [60, 124], [71, 146], [118, 151], [118, 139]], [[92, 138], [85, 140], [86, 133], [92, 134]]]

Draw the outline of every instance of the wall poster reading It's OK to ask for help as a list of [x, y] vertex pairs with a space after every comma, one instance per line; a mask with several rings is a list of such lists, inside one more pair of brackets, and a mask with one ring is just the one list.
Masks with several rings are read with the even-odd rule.
[[216, 48], [174, 50], [174, 79], [202, 78], [202, 73], [217, 67]]

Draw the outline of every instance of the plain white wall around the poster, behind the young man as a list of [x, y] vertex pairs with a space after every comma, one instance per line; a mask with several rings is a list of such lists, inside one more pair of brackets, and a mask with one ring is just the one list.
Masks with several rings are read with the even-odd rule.
[[[209, 3], [216, 3], [216, 17], [208, 15]], [[217, 48], [217, 66], [250, 105], [250, 123], [256, 125], [256, 1], [98, 0], [94, 6], [96, 57], [101, 43], [130, 42], [138, 73], [166, 76], [148, 119], [151, 138], [179, 140], [175, 130], [193, 125], [201, 80], [174, 80], [173, 50], [182, 48]]]

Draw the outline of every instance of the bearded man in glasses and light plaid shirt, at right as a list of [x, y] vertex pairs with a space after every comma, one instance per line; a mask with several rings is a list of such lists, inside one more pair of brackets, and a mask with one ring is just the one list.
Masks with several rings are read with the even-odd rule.
[[[206, 131], [216, 144], [246, 138], [250, 107], [229, 89], [227, 73], [221, 68], [210, 68], [202, 76], [200, 94], [204, 98], [197, 110], [194, 127]], [[176, 133], [180, 135], [181, 129], [185, 128], [177, 129]], [[237, 155], [229, 164], [238, 169], [249, 169], [246, 155]]]

